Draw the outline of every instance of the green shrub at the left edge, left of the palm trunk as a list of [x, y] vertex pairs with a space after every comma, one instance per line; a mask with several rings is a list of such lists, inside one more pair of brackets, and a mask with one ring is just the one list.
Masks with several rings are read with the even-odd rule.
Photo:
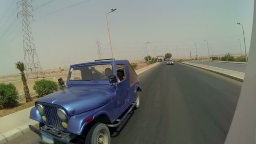
[[17, 106], [18, 99], [18, 91], [12, 83], [0, 83], [0, 109]]

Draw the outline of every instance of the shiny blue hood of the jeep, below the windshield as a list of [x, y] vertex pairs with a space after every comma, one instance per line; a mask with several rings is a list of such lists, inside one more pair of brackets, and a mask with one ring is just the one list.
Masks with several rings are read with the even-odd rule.
[[109, 103], [112, 95], [114, 91], [111, 88], [79, 86], [51, 93], [37, 102], [59, 105], [72, 116]]

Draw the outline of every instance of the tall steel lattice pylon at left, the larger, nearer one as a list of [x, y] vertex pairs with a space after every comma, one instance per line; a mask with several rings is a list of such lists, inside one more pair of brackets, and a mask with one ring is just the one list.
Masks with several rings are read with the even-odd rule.
[[22, 11], [17, 13], [17, 16], [18, 17], [19, 15], [22, 16], [23, 51], [24, 51], [26, 73], [27, 75], [31, 73], [32, 75], [36, 75], [38, 77], [38, 71], [39, 70], [41, 71], [42, 68], [37, 56], [34, 38], [32, 35], [32, 29], [30, 27], [30, 21], [29, 21], [29, 17], [32, 16], [32, 14], [28, 10], [28, 8], [30, 7], [32, 11], [32, 5], [28, 2], [28, 0], [21, 0], [17, 2], [17, 7], [18, 7], [18, 4], [22, 6]]

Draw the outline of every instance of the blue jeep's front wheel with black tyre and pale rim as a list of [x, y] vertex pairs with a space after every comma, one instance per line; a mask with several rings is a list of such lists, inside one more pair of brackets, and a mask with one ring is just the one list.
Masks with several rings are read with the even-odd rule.
[[110, 132], [104, 123], [96, 123], [88, 132], [85, 144], [110, 144]]

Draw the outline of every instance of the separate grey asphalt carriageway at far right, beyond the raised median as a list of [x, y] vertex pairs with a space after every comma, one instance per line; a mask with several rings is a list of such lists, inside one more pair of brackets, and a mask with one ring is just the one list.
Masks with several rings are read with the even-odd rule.
[[237, 72], [244, 72], [247, 64], [232, 64], [232, 63], [222, 63], [222, 62], [211, 62], [211, 61], [190, 61], [196, 64], [204, 64], [212, 67], [219, 67], [222, 69], [230, 69]]

